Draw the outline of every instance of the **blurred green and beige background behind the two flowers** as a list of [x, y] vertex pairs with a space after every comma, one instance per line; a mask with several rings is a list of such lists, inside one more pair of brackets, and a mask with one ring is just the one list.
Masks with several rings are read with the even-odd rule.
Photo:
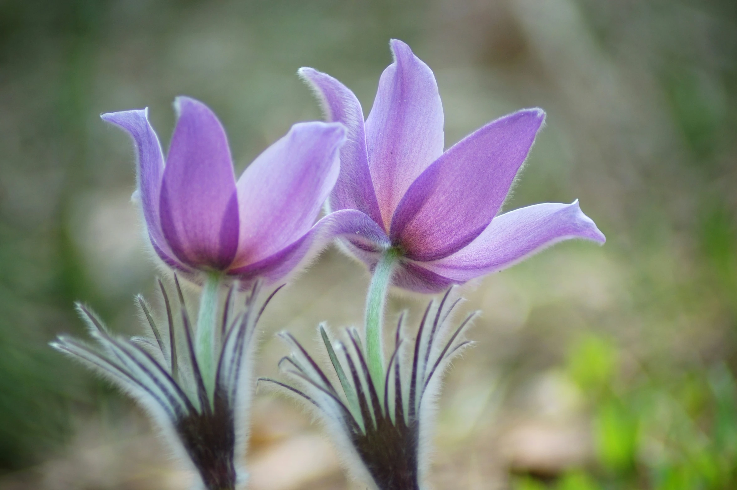
[[[99, 113], [149, 106], [167, 144], [172, 100], [196, 97], [242, 169], [320, 118], [300, 66], [368, 113], [390, 38], [435, 71], [447, 144], [544, 108], [506, 209], [579, 198], [608, 238], [464, 288], [484, 314], [441, 399], [436, 488], [737, 488], [735, 1], [1, 0], [0, 489], [187, 487], [139, 410], [46, 346], [83, 332], [73, 301], [133, 332], [153, 292], [131, 145]], [[367, 280], [326, 252], [265, 318], [259, 374], [276, 330], [360, 321]], [[249, 464], [256, 490], [352, 485], [269, 393]]]

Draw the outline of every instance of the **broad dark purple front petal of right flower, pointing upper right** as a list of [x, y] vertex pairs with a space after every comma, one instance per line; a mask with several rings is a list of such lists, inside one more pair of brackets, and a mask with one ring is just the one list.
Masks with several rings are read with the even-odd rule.
[[426, 262], [449, 256], [492, 222], [537, 130], [541, 109], [504, 116], [458, 141], [422, 172], [399, 203], [389, 236]]

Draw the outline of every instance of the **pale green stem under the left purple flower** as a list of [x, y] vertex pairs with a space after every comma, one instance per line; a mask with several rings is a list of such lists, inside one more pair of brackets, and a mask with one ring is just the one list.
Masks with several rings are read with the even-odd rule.
[[212, 397], [215, 386], [214, 336], [217, 323], [217, 300], [220, 291], [220, 273], [208, 273], [200, 295], [200, 312], [195, 332], [195, 351], [207, 393]]

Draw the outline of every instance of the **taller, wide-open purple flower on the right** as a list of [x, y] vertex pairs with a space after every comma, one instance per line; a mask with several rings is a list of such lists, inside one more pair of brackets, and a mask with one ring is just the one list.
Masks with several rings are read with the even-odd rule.
[[392, 40], [391, 49], [394, 63], [381, 76], [366, 122], [345, 85], [314, 69], [300, 70], [327, 119], [348, 130], [329, 207], [363, 211], [383, 230], [370, 246], [343, 240], [349, 251], [373, 269], [391, 250], [399, 256], [394, 284], [434, 293], [564, 239], [604, 242], [578, 201], [497, 216], [545, 119], [541, 109], [489, 122], [444, 152], [433, 72], [402, 41]]

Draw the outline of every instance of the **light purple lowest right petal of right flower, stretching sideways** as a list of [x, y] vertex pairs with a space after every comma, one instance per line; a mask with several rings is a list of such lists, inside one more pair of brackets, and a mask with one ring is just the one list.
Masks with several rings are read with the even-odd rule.
[[578, 200], [571, 204], [536, 204], [495, 217], [489, 228], [466, 248], [422, 265], [441, 276], [464, 282], [502, 270], [572, 238], [606, 241], [595, 223], [581, 211]]

